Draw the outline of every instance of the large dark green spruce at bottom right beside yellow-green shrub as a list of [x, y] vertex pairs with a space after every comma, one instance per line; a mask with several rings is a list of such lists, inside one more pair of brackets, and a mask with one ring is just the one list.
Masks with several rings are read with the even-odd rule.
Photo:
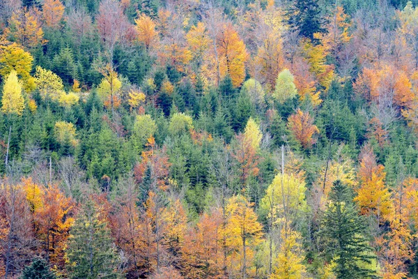
[[353, 203], [353, 190], [335, 181], [323, 217], [327, 250], [334, 255], [336, 278], [376, 278], [371, 264], [376, 257], [364, 238], [365, 226]]

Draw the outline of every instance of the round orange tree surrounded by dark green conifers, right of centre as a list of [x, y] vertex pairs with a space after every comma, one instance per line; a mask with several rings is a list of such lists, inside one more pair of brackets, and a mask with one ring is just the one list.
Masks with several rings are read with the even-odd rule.
[[288, 128], [305, 149], [311, 148], [312, 144], [316, 142], [312, 137], [319, 133], [318, 127], [314, 125], [314, 119], [311, 118], [309, 112], [302, 112], [300, 109], [297, 109], [296, 113], [289, 117]]

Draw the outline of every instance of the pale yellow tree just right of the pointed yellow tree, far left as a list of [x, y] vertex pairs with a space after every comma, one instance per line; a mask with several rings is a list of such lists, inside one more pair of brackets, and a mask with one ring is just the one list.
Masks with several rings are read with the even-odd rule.
[[42, 98], [59, 100], [63, 94], [63, 81], [61, 80], [61, 77], [53, 73], [51, 70], [45, 70], [40, 68], [40, 66], [37, 66], [35, 80], [36, 86], [38, 87]]

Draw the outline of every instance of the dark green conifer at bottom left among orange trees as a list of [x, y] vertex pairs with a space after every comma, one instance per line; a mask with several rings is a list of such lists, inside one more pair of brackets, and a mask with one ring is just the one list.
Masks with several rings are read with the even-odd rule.
[[71, 278], [118, 278], [118, 255], [100, 210], [88, 200], [72, 227], [67, 248]]

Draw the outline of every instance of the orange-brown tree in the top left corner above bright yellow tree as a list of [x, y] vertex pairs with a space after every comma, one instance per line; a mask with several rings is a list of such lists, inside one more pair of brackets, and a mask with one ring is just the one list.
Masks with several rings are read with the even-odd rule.
[[44, 45], [43, 31], [39, 20], [39, 10], [24, 8], [13, 13], [9, 20], [9, 27], [4, 33], [10, 40], [31, 49]]

